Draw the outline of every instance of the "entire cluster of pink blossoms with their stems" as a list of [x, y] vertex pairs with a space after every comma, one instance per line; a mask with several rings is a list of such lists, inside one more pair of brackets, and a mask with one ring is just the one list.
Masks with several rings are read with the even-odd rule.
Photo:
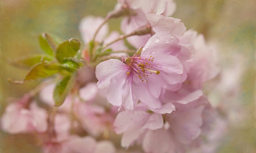
[[[140, 145], [138, 152], [203, 148], [200, 135], [216, 116], [203, 84], [219, 69], [204, 36], [170, 17], [175, 9], [171, 0], [119, 0], [106, 19], [84, 18], [88, 67], [77, 72], [64, 104], [54, 106], [56, 83], [48, 80], [39, 98], [28, 93], [7, 106], [2, 129], [33, 133], [44, 153], [122, 152], [115, 133], [125, 149]], [[124, 35], [108, 34], [106, 21], [120, 16]]]

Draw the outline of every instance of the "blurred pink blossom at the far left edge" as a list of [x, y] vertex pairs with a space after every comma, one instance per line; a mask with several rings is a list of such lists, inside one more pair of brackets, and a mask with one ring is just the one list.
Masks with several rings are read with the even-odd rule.
[[1, 119], [1, 127], [5, 132], [11, 134], [28, 132], [45, 132], [47, 130], [46, 110], [32, 102], [29, 108], [26, 103], [18, 101], [8, 105]]

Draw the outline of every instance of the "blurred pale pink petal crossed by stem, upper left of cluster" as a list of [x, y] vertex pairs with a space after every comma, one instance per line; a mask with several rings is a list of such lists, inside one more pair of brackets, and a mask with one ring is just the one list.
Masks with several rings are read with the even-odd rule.
[[[93, 16], [87, 16], [86, 18], [83, 18], [80, 21], [79, 30], [85, 44], [89, 43], [92, 40], [92, 37], [95, 34], [96, 30], [98, 29], [100, 24], [103, 22], [104, 22], [104, 18], [93, 17]], [[105, 24], [101, 27], [95, 40], [98, 42], [101, 42], [107, 34], [108, 34], [108, 25]]]

